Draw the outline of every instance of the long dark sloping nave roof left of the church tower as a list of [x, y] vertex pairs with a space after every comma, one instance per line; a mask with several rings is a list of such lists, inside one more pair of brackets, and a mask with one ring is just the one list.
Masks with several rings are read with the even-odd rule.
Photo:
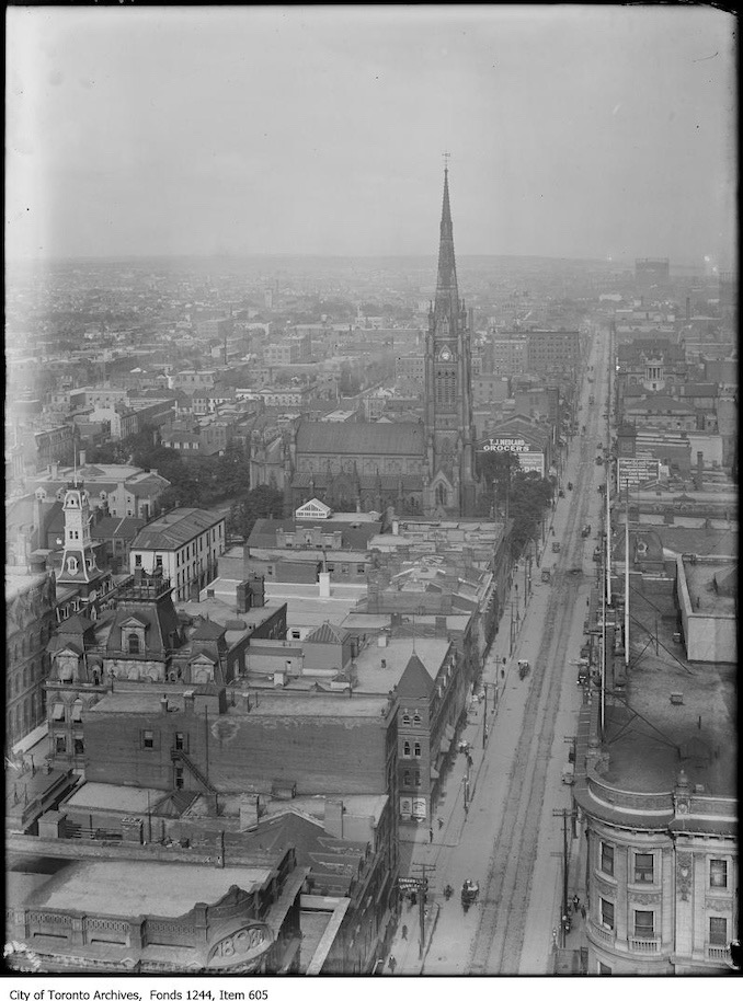
[[298, 455], [411, 456], [425, 455], [423, 424], [334, 424], [302, 421], [297, 429]]

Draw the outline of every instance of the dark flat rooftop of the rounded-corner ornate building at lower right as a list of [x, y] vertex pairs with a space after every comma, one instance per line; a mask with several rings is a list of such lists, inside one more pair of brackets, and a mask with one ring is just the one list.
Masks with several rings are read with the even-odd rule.
[[666, 792], [683, 767], [691, 789], [735, 796], [736, 666], [686, 660], [673, 638], [673, 597], [655, 590], [648, 598], [652, 605], [639, 595], [630, 605], [631, 667], [624, 704], [606, 706], [604, 778], [618, 787]]

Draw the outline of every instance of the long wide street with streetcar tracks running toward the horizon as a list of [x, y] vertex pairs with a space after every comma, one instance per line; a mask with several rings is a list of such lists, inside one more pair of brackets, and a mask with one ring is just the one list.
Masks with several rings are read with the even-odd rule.
[[[416, 916], [403, 907], [400, 923], [407, 922], [411, 934], [402, 941], [398, 931], [392, 945], [398, 975], [547, 974], [553, 968], [552, 929], [560, 921], [563, 872], [563, 820], [555, 812], [571, 806], [562, 769], [582, 700], [575, 660], [596, 577], [592, 555], [604, 500], [597, 487], [605, 472], [595, 465], [595, 457], [597, 442], [607, 442], [603, 415], [609, 358], [605, 335], [597, 342], [587, 363], [594, 366], [588, 375], [595, 382], [586, 377], [581, 390], [579, 433], [561, 474], [565, 496], [552, 515], [555, 534], [548, 527], [544, 548], [539, 546], [540, 566], [531, 565], [530, 580], [523, 562], [514, 574], [518, 584], [518, 591], [515, 586], [512, 590], [514, 618], [518, 612], [515, 645], [511, 652], [511, 609], [506, 608], [483, 675], [488, 706], [480, 703], [470, 712], [465, 738], [472, 746], [471, 802], [465, 810], [467, 766], [465, 756], [458, 755], [433, 822], [433, 843], [427, 843], [428, 832], [422, 830], [414, 845], [416, 867], [435, 865], [432, 904], [438, 910], [421, 960]], [[596, 402], [590, 405], [592, 393]], [[567, 488], [569, 481], [572, 492]], [[584, 539], [581, 530], [586, 522], [592, 531]], [[551, 550], [553, 540], [561, 543], [559, 554]], [[542, 568], [551, 571], [551, 583], [541, 582]], [[531, 665], [523, 680], [517, 669], [522, 658]], [[570, 838], [573, 856], [576, 850], [578, 841]], [[480, 896], [464, 913], [459, 893], [467, 878], [479, 883]], [[443, 896], [446, 884], [455, 890], [448, 901]]]

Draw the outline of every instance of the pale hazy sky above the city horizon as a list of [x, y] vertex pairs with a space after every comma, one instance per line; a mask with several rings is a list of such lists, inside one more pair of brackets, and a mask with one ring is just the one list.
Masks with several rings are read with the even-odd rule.
[[685, 7], [7, 9], [7, 252], [710, 255], [732, 15]]

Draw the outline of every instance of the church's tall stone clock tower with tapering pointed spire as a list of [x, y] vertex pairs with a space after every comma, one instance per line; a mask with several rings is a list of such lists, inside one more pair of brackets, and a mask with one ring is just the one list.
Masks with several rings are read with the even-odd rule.
[[471, 368], [470, 331], [457, 287], [449, 175], [445, 168], [436, 298], [428, 312], [425, 341], [427, 515], [475, 514], [478, 481]]

